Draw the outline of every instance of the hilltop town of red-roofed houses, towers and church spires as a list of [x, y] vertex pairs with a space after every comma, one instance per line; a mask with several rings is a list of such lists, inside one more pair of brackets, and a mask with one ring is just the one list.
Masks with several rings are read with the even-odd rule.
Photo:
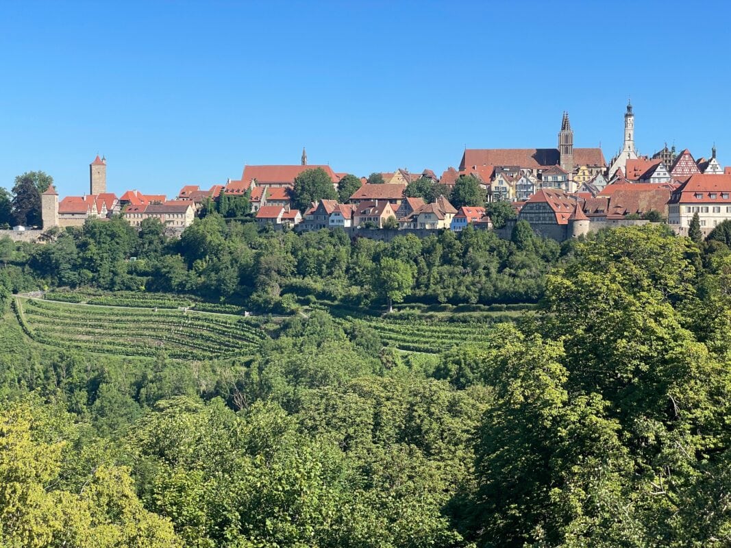
[[[314, 185], [306, 202], [298, 180]], [[186, 185], [170, 198], [150, 191], [128, 190], [120, 197], [107, 192], [107, 160], [97, 155], [90, 164], [89, 194], [59, 199], [53, 186], [42, 193], [42, 229], [120, 215], [133, 227], [158, 218], [179, 235], [198, 216], [224, 210], [260, 226], [298, 232], [339, 227], [351, 235], [390, 239], [395, 233], [459, 232], [468, 225], [493, 228], [489, 210], [496, 202], [510, 204], [514, 212], [495, 224], [504, 234], [527, 221], [537, 234], [558, 241], [647, 222], [665, 222], [687, 235], [696, 213], [707, 235], [731, 219], [731, 167], [721, 167], [715, 145], [708, 158], [667, 143], [643, 155], [635, 148], [632, 104], [624, 113], [623, 145], [609, 161], [601, 148], [574, 146], [564, 113], [556, 148], [466, 148], [458, 168], [441, 175], [397, 169], [355, 177], [308, 164], [303, 149], [299, 164], [245, 165], [239, 179], [209, 189]]]

